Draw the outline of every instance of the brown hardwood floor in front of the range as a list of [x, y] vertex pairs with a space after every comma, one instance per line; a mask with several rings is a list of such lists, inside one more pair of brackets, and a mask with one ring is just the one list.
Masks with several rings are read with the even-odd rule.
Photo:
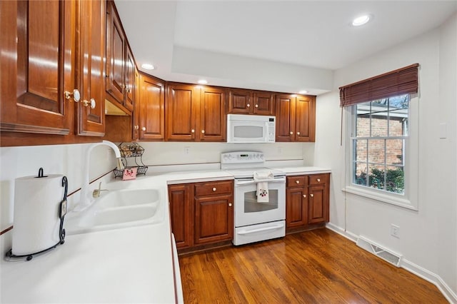
[[184, 303], [448, 303], [326, 228], [181, 255]]

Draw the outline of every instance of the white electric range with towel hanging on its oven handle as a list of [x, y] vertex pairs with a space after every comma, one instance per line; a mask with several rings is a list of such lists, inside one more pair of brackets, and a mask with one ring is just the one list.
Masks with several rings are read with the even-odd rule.
[[285, 174], [256, 151], [221, 153], [221, 169], [235, 178], [233, 245], [286, 235]]

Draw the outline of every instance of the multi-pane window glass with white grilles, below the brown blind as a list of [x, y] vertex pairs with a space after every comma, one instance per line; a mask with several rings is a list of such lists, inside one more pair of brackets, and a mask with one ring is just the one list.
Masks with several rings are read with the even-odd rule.
[[404, 194], [409, 94], [353, 106], [352, 183]]

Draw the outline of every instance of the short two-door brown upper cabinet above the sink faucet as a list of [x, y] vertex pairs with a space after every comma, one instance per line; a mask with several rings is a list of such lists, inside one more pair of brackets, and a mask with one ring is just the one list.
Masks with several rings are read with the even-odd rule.
[[130, 115], [134, 110], [135, 61], [114, 1], [106, 3], [106, 99]]

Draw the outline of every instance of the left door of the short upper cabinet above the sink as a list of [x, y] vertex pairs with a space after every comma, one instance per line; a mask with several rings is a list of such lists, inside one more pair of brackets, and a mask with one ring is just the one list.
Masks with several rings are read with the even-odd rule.
[[106, 91], [118, 103], [124, 104], [124, 62], [126, 37], [122, 30], [121, 21], [112, 1], [108, 2], [108, 18], [106, 40]]

